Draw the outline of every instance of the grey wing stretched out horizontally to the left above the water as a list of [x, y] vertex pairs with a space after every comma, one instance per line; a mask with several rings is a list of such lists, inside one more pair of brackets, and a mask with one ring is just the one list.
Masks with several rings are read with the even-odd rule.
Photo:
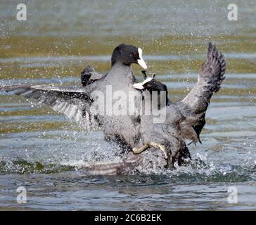
[[39, 103], [49, 105], [58, 113], [63, 113], [89, 128], [93, 122], [87, 112], [91, 99], [82, 88], [74, 89], [61, 86], [44, 85], [7, 85], [0, 86], [0, 91], [10, 94], [25, 96]]

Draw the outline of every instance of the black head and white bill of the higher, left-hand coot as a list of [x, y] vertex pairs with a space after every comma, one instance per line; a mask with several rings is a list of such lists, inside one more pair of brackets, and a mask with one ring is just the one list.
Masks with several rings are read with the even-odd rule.
[[147, 69], [147, 65], [142, 58], [142, 49], [133, 45], [120, 44], [117, 46], [111, 56], [111, 65], [115, 65], [115, 63], [123, 63], [124, 65], [136, 63], [141, 65], [144, 70]]

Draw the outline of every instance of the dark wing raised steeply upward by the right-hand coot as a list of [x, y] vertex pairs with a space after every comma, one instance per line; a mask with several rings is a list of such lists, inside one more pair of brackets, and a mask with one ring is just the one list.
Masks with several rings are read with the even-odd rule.
[[200, 142], [200, 132], [205, 125], [205, 112], [212, 94], [219, 91], [225, 79], [226, 60], [222, 53], [218, 53], [215, 44], [209, 43], [207, 60], [203, 63], [199, 73], [198, 83], [191, 92], [179, 103], [184, 121], [181, 131], [186, 139], [194, 143]]

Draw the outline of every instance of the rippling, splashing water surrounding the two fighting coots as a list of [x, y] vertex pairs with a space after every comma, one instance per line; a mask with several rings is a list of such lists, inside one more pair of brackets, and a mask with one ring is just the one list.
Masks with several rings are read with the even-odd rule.
[[[229, 1], [25, 1], [26, 22], [15, 20], [18, 3], [0, 2], [0, 84], [79, 84], [88, 64], [107, 71], [122, 42], [143, 49], [172, 101], [196, 83], [207, 41], [225, 53], [227, 70], [203, 144], [189, 146], [192, 165], [136, 176], [88, 176], [85, 161], [118, 160], [115, 143], [1, 92], [1, 210], [256, 210], [255, 2], [239, 3], [229, 21]], [[16, 202], [19, 186], [27, 204]]]

